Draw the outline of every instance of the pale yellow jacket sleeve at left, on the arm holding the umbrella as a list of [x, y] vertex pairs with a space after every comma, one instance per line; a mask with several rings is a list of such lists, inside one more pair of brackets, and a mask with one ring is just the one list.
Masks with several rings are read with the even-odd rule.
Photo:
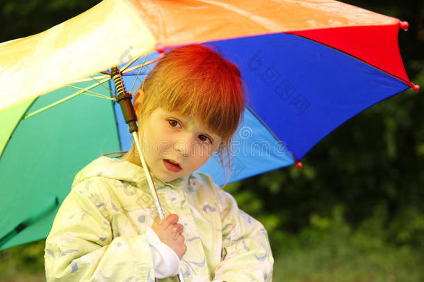
[[111, 224], [81, 182], [60, 206], [44, 249], [47, 281], [154, 281], [146, 235], [113, 238]]

